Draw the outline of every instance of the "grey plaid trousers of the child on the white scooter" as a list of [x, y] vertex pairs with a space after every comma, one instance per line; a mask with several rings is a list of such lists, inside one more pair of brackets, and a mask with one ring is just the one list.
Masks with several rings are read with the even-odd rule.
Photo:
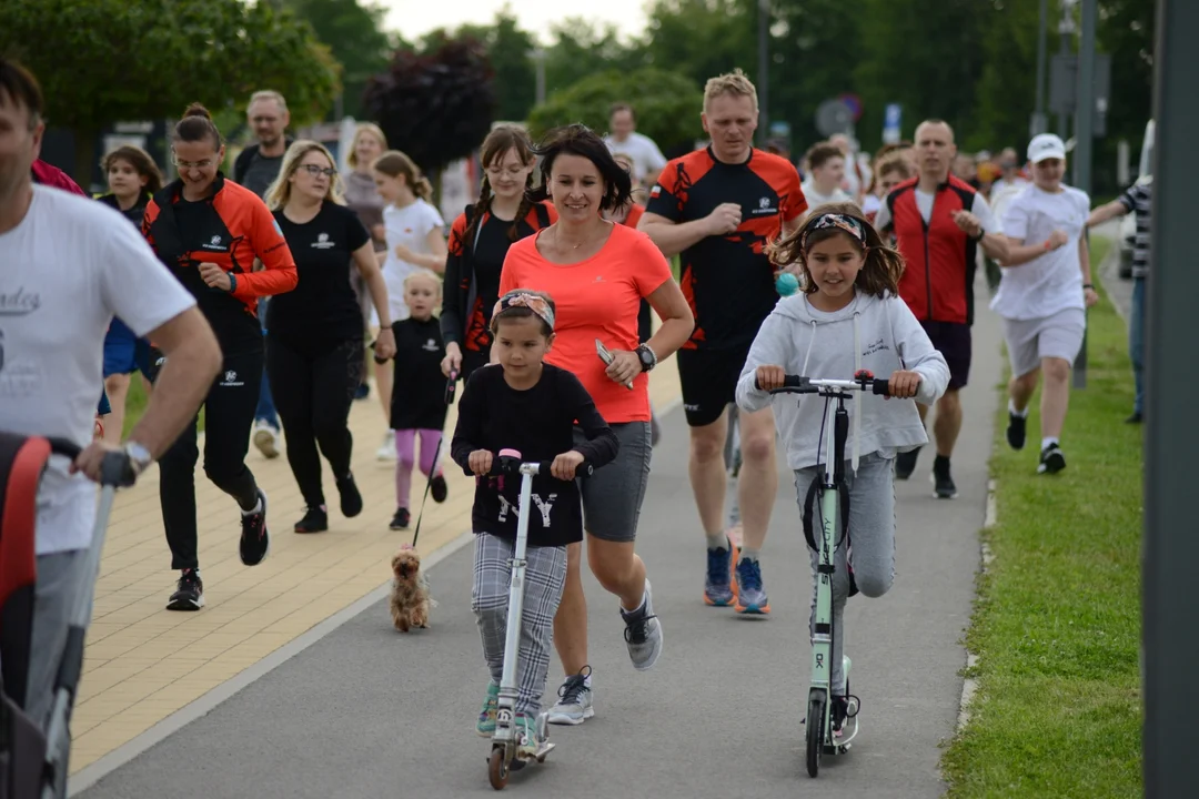
[[[470, 592], [470, 607], [478, 622], [483, 659], [496, 685], [504, 676], [504, 638], [507, 635], [508, 591], [512, 585], [508, 561], [514, 551], [516, 541], [487, 533], [475, 535], [475, 583]], [[516, 710], [536, 715], [549, 671], [554, 616], [566, 585], [566, 547], [529, 546], [525, 561]]]

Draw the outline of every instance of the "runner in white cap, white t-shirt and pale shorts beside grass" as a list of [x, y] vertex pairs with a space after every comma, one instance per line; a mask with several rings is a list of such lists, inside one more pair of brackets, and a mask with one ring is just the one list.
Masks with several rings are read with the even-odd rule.
[[1062, 186], [1066, 145], [1052, 133], [1029, 143], [1032, 186], [1012, 198], [1004, 214], [1007, 258], [990, 307], [1004, 317], [1012, 362], [1007, 443], [1024, 448], [1029, 400], [1041, 392], [1041, 462], [1037, 472], [1066, 468], [1060, 438], [1070, 405], [1070, 369], [1083, 346], [1086, 308], [1098, 302], [1086, 249], [1085, 192]]

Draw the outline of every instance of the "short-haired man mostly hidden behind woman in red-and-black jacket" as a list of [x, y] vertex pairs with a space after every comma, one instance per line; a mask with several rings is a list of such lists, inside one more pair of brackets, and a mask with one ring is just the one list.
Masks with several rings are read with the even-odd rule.
[[[239, 153], [233, 164], [233, 181], [248, 188], [259, 198], [266, 196], [266, 189], [279, 176], [283, 153], [291, 146], [287, 135], [291, 115], [288, 103], [277, 91], [255, 91], [246, 107], [246, 121], [258, 138]], [[270, 307], [267, 297], [259, 298], [258, 319], [266, 335], [266, 310]], [[259, 386], [258, 407], [254, 410], [254, 446], [265, 458], [278, 458], [279, 414], [275, 410], [275, 398], [271, 394], [271, 381], [263, 375]]]

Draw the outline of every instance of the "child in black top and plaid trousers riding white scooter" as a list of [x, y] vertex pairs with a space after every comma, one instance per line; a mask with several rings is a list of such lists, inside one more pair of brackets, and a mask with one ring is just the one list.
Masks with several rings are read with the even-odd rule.
[[[548, 295], [506, 293], [492, 314], [492, 333], [499, 368], [477, 369], [466, 382], [451, 454], [476, 476], [471, 606], [492, 676], [476, 725], [483, 737], [495, 731], [518, 513], [530, 514], [516, 702], [520, 753], [529, 756], [543, 743], [536, 716], [566, 581], [566, 545], [583, 540], [574, 473], [584, 462], [600, 467], [611, 461], [619, 443], [578, 377], [543, 363], [554, 341], [554, 302]], [[576, 424], [588, 438], [578, 447]], [[519, 507], [519, 479], [488, 477], [506, 448], [518, 450], [525, 462], [553, 461], [552, 477], [534, 477], [531, 508]]]

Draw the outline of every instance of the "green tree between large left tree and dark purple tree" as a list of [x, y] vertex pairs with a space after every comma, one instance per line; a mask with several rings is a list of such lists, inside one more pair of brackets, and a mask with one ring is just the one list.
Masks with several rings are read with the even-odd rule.
[[287, 0], [341, 62], [342, 113], [362, 116], [362, 92], [370, 75], [387, 68], [392, 47], [382, 30], [386, 8], [359, 0]]

